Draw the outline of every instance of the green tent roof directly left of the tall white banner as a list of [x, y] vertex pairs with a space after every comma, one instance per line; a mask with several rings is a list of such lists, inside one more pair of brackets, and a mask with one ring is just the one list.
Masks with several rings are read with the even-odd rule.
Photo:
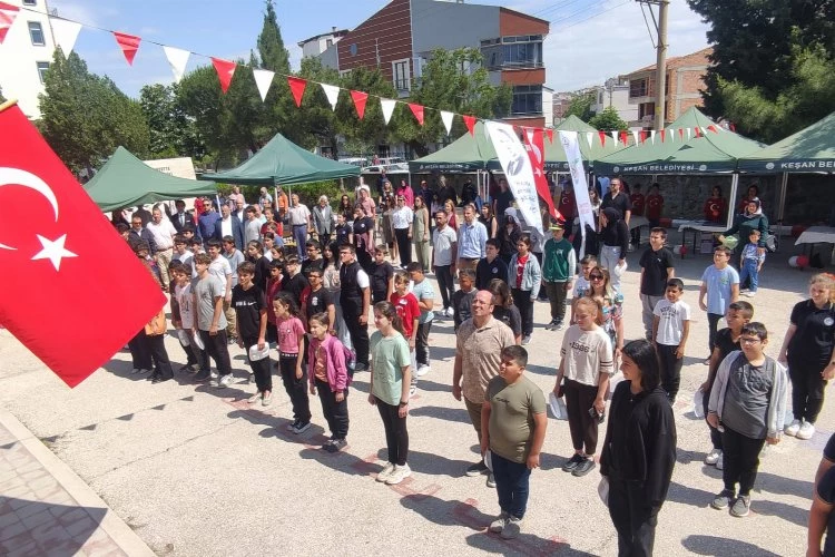
[[487, 136], [484, 123], [479, 120], [472, 135], [468, 131], [441, 150], [409, 163], [409, 170], [424, 173], [441, 172], [475, 172], [487, 169], [488, 163], [495, 159], [495, 149]]

